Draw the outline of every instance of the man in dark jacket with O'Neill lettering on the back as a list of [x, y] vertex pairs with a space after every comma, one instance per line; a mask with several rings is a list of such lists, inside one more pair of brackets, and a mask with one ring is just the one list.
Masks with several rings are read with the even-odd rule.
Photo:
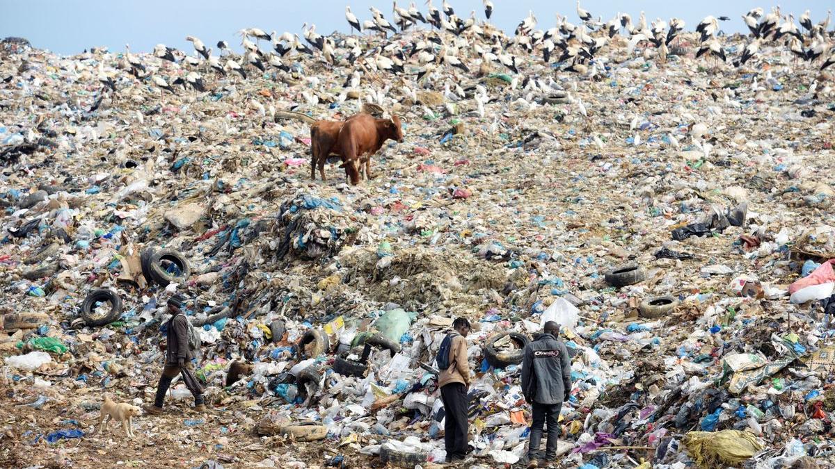
[[545, 323], [544, 334], [524, 349], [522, 361], [522, 392], [533, 407], [533, 423], [528, 443], [528, 467], [539, 466], [539, 442], [542, 427], [548, 424], [544, 466], [554, 460], [559, 437], [559, 410], [571, 393], [571, 359], [562, 341], [557, 340], [559, 324]]

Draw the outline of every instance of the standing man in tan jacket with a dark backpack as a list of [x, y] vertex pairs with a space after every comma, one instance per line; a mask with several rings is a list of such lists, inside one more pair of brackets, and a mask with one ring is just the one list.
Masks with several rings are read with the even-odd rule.
[[469, 362], [467, 360], [467, 335], [470, 323], [464, 318], [453, 321], [453, 332], [441, 342], [438, 350], [438, 364], [441, 375], [438, 386], [441, 388], [444, 418], [443, 442], [447, 449], [447, 462], [462, 462], [467, 456], [468, 399], [470, 383]]

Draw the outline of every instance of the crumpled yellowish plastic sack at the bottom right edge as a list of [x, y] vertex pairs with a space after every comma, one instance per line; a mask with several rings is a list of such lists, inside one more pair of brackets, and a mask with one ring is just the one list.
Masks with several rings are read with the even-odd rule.
[[750, 431], [691, 431], [682, 440], [696, 465], [713, 467], [739, 466], [762, 450], [762, 443]]

